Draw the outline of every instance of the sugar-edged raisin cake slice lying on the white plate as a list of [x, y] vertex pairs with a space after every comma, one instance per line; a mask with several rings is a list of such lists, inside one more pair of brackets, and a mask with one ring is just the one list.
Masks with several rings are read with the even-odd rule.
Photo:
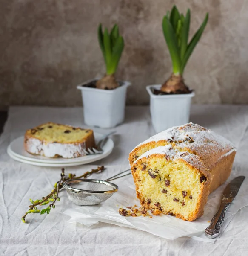
[[84, 156], [83, 149], [95, 146], [92, 130], [48, 122], [26, 131], [24, 148], [45, 157]]

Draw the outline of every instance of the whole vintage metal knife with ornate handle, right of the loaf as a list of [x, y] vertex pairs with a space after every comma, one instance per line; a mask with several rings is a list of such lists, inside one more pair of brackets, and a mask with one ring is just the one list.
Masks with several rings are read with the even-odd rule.
[[208, 238], [215, 238], [220, 234], [220, 227], [225, 219], [225, 212], [235, 196], [239, 192], [245, 176], [239, 176], [233, 179], [226, 187], [222, 194], [221, 203], [218, 212], [212, 218], [209, 227], [205, 229], [205, 235]]

